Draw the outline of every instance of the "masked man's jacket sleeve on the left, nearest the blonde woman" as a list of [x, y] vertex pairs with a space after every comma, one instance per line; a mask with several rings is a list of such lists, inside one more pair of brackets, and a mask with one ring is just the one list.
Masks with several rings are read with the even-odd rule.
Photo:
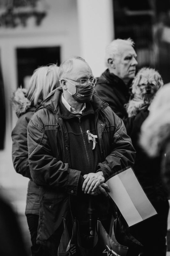
[[58, 156], [52, 155], [44, 125], [36, 113], [27, 127], [27, 140], [33, 181], [39, 186], [77, 195], [84, 178], [80, 175], [80, 171], [70, 169], [68, 163], [63, 163]]

